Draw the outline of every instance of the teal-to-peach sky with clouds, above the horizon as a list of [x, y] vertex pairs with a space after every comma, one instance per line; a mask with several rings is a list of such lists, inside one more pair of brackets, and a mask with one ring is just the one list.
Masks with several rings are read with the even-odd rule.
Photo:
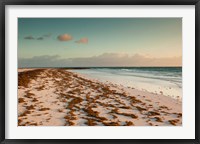
[[181, 18], [18, 18], [18, 67], [181, 65]]

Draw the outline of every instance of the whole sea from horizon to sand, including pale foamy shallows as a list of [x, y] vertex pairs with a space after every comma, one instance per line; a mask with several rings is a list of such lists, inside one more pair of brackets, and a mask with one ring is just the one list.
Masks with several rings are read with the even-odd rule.
[[182, 97], [182, 67], [95, 67], [72, 71], [101, 82]]

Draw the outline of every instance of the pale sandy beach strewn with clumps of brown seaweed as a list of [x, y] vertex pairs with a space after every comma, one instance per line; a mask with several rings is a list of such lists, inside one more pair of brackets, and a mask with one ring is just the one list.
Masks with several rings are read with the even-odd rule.
[[18, 69], [18, 126], [181, 126], [182, 101], [65, 69]]

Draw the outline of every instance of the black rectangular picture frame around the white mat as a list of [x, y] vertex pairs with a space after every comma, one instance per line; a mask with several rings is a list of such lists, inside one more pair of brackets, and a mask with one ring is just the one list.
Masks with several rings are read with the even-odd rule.
[[[6, 139], [5, 138], [5, 7], [6, 5], [195, 5], [195, 139]], [[199, 144], [199, 60], [200, 0], [0, 0], [0, 142], [1, 143], [68, 143], [68, 144]]]

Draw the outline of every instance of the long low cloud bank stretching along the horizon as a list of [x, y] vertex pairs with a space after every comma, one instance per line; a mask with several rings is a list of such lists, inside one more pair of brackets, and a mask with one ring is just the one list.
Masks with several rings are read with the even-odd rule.
[[140, 54], [133, 56], [118, 53], [104, 53], [88, 58], [61, 58], [36, 56], [20, 58], [19, 67], [109, 67], [109, 66], [181, 66], [182, 57], [150, 58]]

